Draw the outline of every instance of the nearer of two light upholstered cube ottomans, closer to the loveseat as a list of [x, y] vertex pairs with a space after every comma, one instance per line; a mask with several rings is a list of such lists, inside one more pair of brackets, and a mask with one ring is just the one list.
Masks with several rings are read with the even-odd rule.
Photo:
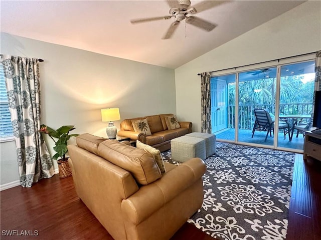
[[193, 136], [180, 136], [171, 140], [172, 160], [184, 162], [193, 157], [206, 158], [205, 139]]

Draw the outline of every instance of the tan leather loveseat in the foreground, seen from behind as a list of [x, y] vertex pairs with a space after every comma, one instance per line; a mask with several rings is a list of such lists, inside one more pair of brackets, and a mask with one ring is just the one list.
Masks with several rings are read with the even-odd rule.
[[114, 239], [169, 239], [203, 202], [202, 159], [161, 173], [154, 157], [89, 133], [68, 145], [76, 192]]

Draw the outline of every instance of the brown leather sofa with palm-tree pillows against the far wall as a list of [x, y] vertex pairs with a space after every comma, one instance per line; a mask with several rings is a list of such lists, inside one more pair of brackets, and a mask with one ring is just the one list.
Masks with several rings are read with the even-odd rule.
[[[145, 144], [151, 145], [161, 151], [171, 149], [171, 140], [173, 138], [183, 136], [192, 132], [192, 122], [179, 121], [181, 127], [173, 130], [169, 130], [166, 124], [165, 116], [171, 116], [173, 114], [158, 114], [144, 117], [136, 117], [131, 119], [125, 119], [120, 123], [120, 131], [118, 136], [130, 137], [132, 140], [139, 140]], [[132, 120], [147, 119], [150, 127], [151, 135], [146, 136], [143, 133], [134, 131], [132, 126]]]

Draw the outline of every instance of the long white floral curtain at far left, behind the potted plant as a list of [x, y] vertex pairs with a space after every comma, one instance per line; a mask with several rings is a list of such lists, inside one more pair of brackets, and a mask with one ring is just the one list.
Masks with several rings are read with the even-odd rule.
[[36, 58], [1, 54], [8, 103], [17, 146], [20, 183], [31, 187], [55, 174], [40, 129], [39, 61]]

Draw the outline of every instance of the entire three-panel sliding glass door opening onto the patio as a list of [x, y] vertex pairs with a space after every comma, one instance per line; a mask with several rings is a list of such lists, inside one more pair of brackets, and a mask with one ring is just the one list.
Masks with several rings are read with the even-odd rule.
[[313, 86], [314, 61], [213, 76], [212, 132], [224, 141], [302, 150]]

